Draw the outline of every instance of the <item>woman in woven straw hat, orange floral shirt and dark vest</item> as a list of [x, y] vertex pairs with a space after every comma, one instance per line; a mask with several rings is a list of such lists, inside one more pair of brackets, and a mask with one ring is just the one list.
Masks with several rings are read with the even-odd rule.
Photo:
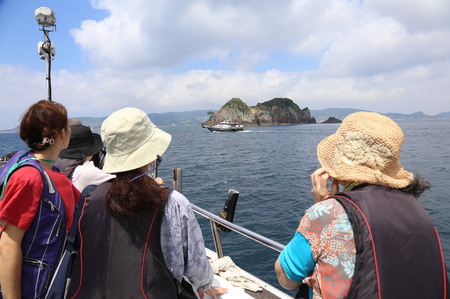
[[439, 235], [417, 200], [429, 184], [403, 169], [403, 141], [390, 118], [357, 112], [319, 143], [316, 204], [275, 263], [283, 287], [302, 298], [449, 296]]

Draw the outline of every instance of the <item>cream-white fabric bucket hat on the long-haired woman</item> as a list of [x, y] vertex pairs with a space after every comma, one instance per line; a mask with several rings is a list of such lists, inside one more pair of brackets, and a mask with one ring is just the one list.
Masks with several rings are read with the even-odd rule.
[[147, 114], [123, 108], [102, 123], [101, 137], [106, 147], [103, 170], [108, 173], [140, 168], [156, 160], [169, 147], [172, 136], [158, 129]]

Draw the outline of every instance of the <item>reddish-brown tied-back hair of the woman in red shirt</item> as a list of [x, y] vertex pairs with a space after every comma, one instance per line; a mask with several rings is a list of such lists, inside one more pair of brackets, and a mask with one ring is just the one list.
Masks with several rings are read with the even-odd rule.
[[54, 139], [67, 125], [67, 110], [62, 104], [40, 100], [22, 116], [20, 138], [32, 150], [43, 150], [52, 144], [44, 138]]

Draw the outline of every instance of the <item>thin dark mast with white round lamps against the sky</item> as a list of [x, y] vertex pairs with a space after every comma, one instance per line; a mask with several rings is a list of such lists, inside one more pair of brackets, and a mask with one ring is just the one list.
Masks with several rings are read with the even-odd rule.
[[[39, 7], [34, 12], [34, 18], [44, 32], [44, 41], [38, 43], [38, 54], [42, 60], [46, 61], [47, 66], [47, 99], [52, 100], [52, 84], [51, 84], [51, 61], [55, 56], [55, 45], [50, 41], [50, 32], [56, 31], [56, 16], [53, 10], [48, 7]], [[51, 29], [48, 29], [48, 28]]]

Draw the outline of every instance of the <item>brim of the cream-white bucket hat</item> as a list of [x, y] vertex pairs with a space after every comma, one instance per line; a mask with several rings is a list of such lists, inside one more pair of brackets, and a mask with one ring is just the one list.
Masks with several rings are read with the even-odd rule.
[[138, 169], [155, 161], [169, 147], [172, 136], [159, 128], [155, 128], [153, 136], [131, 154], [111, 156], [106, 153], [103, 171], [118, 173]]

